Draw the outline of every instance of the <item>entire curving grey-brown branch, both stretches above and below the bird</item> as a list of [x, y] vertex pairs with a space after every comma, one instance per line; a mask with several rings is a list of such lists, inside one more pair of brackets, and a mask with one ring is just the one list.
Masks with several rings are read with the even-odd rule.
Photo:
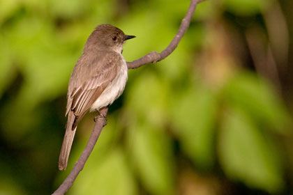
[[[179, 44], [181, 38], [183, 37], [184, 33], [187, 31], [188, 26], [190, 24], [191, 17], [193, 16], [193, 13], [195, 11], [195, 8], [197, 6], [197, 3], [200, 3], [204, 0], [191, 0], [190, 6], [188, 8], [188, 12], [186, 13], [186, 16], [183, 18], [181, 25], [179, 27], [179, 31], [176, 33], [175, 37], [173, 38], [172, 42], [168, 45], [168, 47], [163, 50], [163, 52], [149, 52], [149, 54], [143, 56], [142, 58], [133, 61], [128, 62], [127, 66], [128, 69], [134, 69], [139, 68], [140, 66], [147, 64], [147, 63], [156, 63], [158, 61], [161, 61], [165, 59], [167, 56], [169, 56], [174, 49], [176, 49], [177, 45]], [[101, 110], [101, 114], [103, 116], [107, 115], [108, 109]], [[91, 151], [93, 150], [93, 147], [96, 145], [96, 142], [98, 141], [98, 137], [100, 136], [100, 132], [102, 131], [104, 125], [106, 124], [105, 118], [96, 117], [98, 120], [96, 120], [95, 126], [93, 127], [93, 132], [91, 133], [91, 137], [89, 138], [89, 141], [87, 143], [86, 148], [84, 148], [84, 151], [82, 152], [82, 155], [80, 156], [80, 159], [75, 163], [75, 166], [73, 167], [73, 170], [70, 172], [69, 176], [66, 178], [66, 180], [63, 181], [63, 183], [59, 186], [59, 188], [54, 192], [53, 195], [61, 195], [68, 192], [68, 189], [73, 185], [73, 182], [77, 178], [78, 173], [82, 171], [84, 168], [84, 164], [87, 162], [87, 159], [89, 158], [89, 155], [91, 154]]]

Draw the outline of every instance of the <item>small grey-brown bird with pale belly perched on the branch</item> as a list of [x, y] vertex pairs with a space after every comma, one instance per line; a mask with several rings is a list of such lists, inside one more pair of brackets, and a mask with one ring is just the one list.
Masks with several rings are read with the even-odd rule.
[[127, 36], [115, 26], [101, 24], [91, 33], [71, 74], [66, 115], [68, 120], [59, 157], [59, 170], [65, 170], [77, 128], [87, 111], [99, 111], [123, 93], [127, 65], [121, 55]]

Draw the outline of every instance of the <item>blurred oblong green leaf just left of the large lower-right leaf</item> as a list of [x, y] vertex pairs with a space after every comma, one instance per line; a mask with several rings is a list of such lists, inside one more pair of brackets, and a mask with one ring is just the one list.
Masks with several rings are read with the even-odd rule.
[[184, 152], [205, 169], [213, 165], [213, 137], [216, 121], [216, 98], [202, 86], [190, 88], [177, 98], [173, 117]]

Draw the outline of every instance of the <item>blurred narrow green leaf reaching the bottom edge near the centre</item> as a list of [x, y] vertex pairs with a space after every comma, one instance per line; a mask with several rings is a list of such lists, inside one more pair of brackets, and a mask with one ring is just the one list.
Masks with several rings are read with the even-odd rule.
[[150, 194], [173, 194], [174, 173], [170, 140], [145, 123], [129, 128], [128, 147], [142, 185]]

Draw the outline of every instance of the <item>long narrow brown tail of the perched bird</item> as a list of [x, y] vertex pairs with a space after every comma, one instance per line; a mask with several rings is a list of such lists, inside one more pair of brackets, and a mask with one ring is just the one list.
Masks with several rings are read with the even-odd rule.
[[73, 123], [75, 121], [75, 115], [73, 111], [69, 111], [68, 120], [66, 125], [66, 131], [62, 143], [61, 153], [59, 156], [59, 170], [65, 170], [67, 167], [68, 157], [70, 154], [71, 146], [73, 145], [73, 138], [75, 135], [76, 127], [73, 130]]

